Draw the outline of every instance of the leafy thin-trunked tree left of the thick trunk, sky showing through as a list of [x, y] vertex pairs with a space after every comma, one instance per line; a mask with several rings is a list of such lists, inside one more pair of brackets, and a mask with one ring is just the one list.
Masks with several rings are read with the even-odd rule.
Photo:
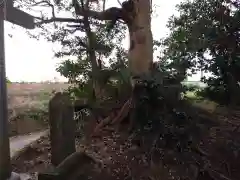
[[[88, 5], [86, 1], [82, 2], [89, 10], [101, 11], [104, 8], [92, 1]], [[108, 74], [113, 74], [107, 70], [108, 58], [114, 56], [125, 37], [126, 27], [122, 23], [116, 22], [108, 31], [110, 22], [89, 18], [87, 13], [79, 17], [73, 4], [67, 1], [20, 0], [17, 5], [39, 13], [36, 18], [39, 32], [29, 32], [31, 37], [44, 37], [59, 45], [55, 49], [55, 56], [66, 60], [56, 70], [74, 84], [71, 92], [78, 92], [76, 87], [90, 82], [94, 89], [95, 85], [103, 86], [108, 82]], [[49, 13], [49, 9], [52, 13]]]

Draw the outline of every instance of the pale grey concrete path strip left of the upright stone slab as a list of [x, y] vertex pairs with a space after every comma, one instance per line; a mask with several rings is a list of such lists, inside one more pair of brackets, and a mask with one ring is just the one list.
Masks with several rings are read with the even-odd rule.
[[11, 137], [10, 140], [10, 156], [15, 156], [19, 151], [23, 150], [26, 146], [30, 145], [40, 137], [46, 135], [48, 130], [34, 132], [27, 135]]

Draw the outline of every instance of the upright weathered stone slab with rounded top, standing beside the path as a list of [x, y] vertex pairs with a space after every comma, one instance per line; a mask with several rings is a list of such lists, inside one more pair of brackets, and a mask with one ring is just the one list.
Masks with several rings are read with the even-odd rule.
[[51, 162], [59, 165], [76, 151], [74, 106], [67, 93], [57, 93], [49, 103]]

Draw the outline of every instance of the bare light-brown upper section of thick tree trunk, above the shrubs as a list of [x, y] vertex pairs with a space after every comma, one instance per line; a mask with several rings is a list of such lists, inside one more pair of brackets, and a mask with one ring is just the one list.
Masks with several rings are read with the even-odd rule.
[[129, 68], [133, 76], [148, 73], [153, 62], [150, 0], [132, 0], [129, 29]]

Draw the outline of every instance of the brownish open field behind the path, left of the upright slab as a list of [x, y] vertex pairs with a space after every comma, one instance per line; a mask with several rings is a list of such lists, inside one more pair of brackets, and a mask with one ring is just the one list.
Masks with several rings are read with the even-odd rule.
[[10, 136], [46, 128], [44, 120], [53, 91], [63, 91], [64, 83], [11, 83], [7, 85]]

